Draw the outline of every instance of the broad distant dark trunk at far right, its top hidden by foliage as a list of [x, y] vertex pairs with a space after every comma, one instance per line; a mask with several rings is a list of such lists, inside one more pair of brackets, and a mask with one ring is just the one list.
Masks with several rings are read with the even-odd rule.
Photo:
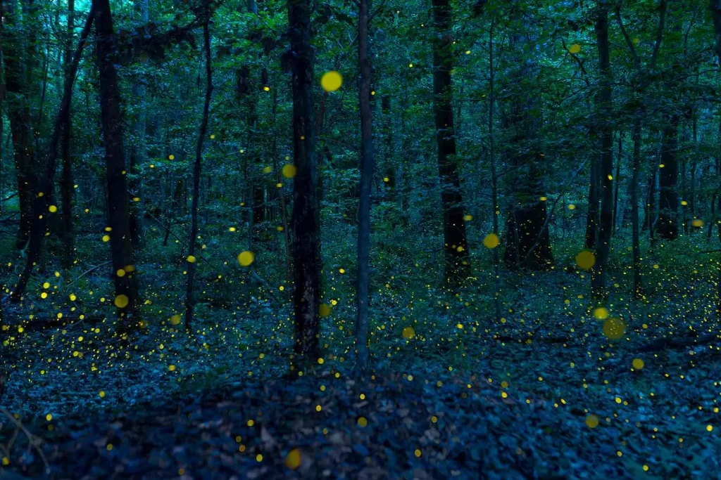
[[660, 238], [673, 240], [678, 237], [678, 115], [674, 114], [663, 130], [661, 165], [659, 171], [658, 224]]

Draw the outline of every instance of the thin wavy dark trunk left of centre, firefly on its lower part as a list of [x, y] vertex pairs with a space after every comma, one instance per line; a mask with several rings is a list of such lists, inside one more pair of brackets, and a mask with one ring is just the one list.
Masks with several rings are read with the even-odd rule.
[[203, 52], [205, 53], [205, 103], [203, 104], [203, 119], [200, 121], [198, 132], [198, 145], [195, 148], [195, 163], [193, 163], [193, 207], [190, 211], [190, 237], [187, 242], [187, 289], [185, 291], [185, 330], [190, 331], [193, 326], [193, 280], [195, 279], [195, 242], [198, 240], [198, 199], [200, 196], [200, 166], [203, 160], [203, 142], [208, 133], [208, 114], [211, 109], [211, 95], [213, 94], [213, 66], [211, 65], [211, 6], [210, 0], [205, 0], [203, 6]]

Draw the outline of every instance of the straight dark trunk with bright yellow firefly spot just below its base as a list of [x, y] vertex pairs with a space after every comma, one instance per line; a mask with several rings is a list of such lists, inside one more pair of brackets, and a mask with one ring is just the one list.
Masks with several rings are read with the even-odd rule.
[[[596, 265], [591, 272], [591, 289], [594, 296], [606, 296], [606, 265], [611, 251], [611, 230], [613, 228], [613, 169], [614, 131], [611, 125], [613, 104], [611, 99], [611, 62], [609, 59], [609, 9], [606, 0], [598, 0], [596, 38], [598, 39], [598, 62], [601, 73], [601, 92], [598, 96], [599, 119], [601, 122], [601, 215], [599, 217], [598, 239], [596, 240]], [[616, 179], [616, 181], [618, 181]]]

